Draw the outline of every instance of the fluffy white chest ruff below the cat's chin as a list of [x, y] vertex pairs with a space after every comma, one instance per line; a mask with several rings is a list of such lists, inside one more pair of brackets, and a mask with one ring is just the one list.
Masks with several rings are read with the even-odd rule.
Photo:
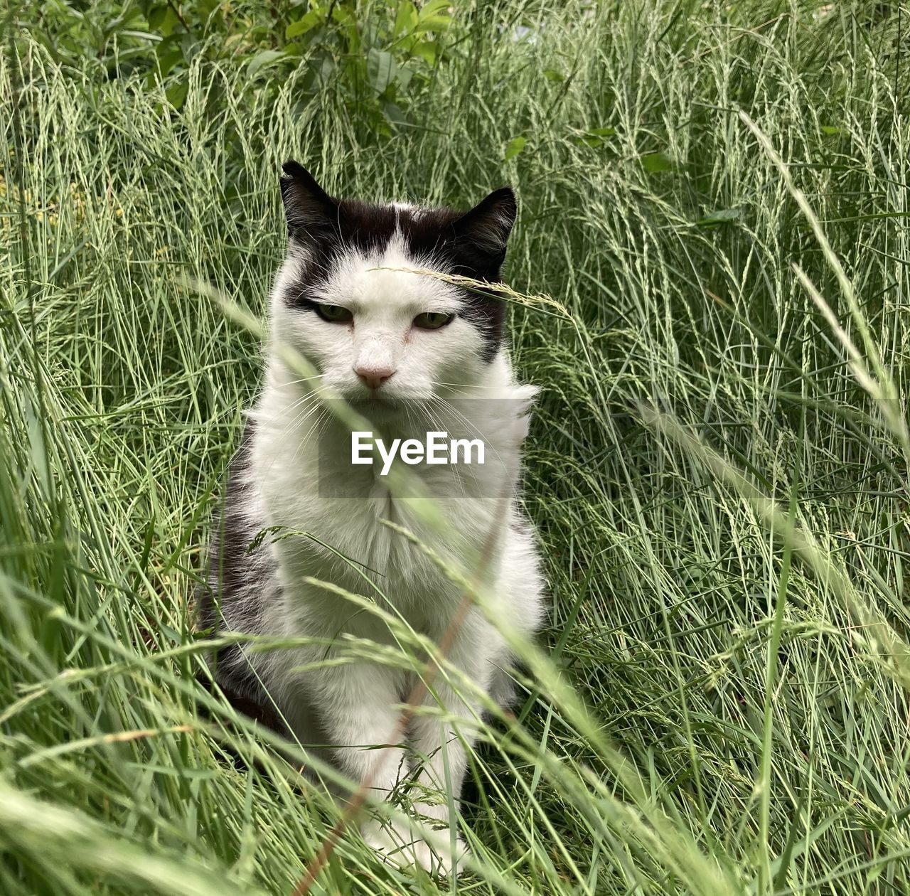
[[[462, 455], [463, 463], [407, 467], [426, 496], [421, 513], [413, 497], [393, 491], [379, 464], [352, 463], [352, 433], [330, 425], [318, 429], [309, 421], [288, 426], [288, 419], [296, 420], [298, 391], [269, 384], [254, 415], [249, 484], [260, 499], [255, 515], [276, 527], [281, 538], [275, 554], [282, 584], [294, 587], [311, 576], [362, 594], [368, 575], [402, 609], [460, 599], [460, 586], [424, 548], [469, 576], [480, 555], [487, 565], [491, 555], [498, 555], [527, 432], [522, 412], [532, 394], [511, 388], [510, 401], [474, 400], [452, 408], [459, 429], [448, 425], [450, 435], [482, 436], [484, 462], [478, 457], [469, 463]], [[413, 435], [403, 426], [416, 416], [386, 420], [380, 432]], [[439, 423], [438, 416], [433, 423]], [[399, 458], [396, 463], [409, 462]]]

